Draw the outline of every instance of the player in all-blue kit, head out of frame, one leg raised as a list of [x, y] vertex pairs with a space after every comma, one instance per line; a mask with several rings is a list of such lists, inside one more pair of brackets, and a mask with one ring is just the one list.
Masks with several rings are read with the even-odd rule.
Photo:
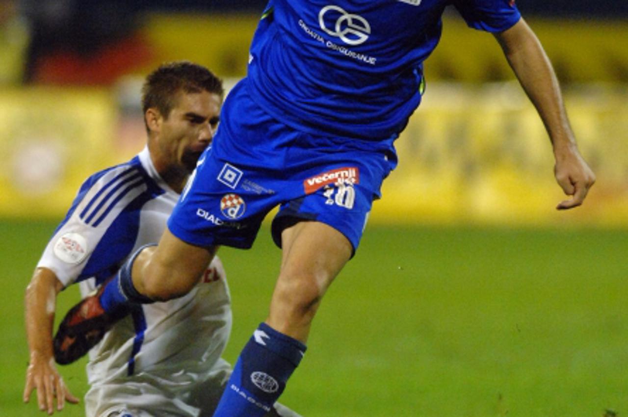
[[263, 415], [298, 366], [320, 301], [355, 253], [396, 165], [393, 143], [420, 104], [422, 63], [449, 4], [495, 36], [543, 120], [556, 180], [571, 196], [557, 208], [582, 204], [595, 176], [578, 152], [551, 64], [513, 0], [271, 0], [248, 75], [225, 100], [214, 144], [160, 243], [136, 252], [95, 297], [101, 315], [78, 317], [78, 305], [64, 332], [78, 320], [104, 333], [101, 323], [129, 303], [185, 295], [217, 246], [251, 247], [279, 205], [272, 233], [283, 257], [269, 314], [214, 414]]

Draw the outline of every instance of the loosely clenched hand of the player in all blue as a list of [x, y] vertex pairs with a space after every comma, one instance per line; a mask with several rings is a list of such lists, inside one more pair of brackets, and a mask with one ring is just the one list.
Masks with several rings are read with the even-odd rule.
[[555, 151], [556, 165], [554, 175], [558, 185], [563, 188], [569, 200], [563, 200], [556, 206], [557, 210], [567, 210], [582, 204], [589, 188], [595, 183], [595, 174], [589, 168], [575, 146], [568, 146]]

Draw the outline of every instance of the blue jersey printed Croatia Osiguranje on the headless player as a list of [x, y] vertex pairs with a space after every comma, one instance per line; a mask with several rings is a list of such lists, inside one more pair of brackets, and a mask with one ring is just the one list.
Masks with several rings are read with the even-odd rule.
[[420, 104], [449, 4], [479, 30], [521, 17], [514, 0], [271, 0], [251, 45], [251, 97], [309, 133], [396, 137]]

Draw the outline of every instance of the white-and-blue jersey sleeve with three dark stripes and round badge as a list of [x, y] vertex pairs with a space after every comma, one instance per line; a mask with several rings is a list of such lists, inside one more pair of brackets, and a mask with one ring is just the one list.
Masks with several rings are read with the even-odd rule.
[[116, 272], [133, 249], [146, 191], [143, 171], [121, 165], [91, 176], [46, 245], [38, 268], [48, 268], [64, 287]]

